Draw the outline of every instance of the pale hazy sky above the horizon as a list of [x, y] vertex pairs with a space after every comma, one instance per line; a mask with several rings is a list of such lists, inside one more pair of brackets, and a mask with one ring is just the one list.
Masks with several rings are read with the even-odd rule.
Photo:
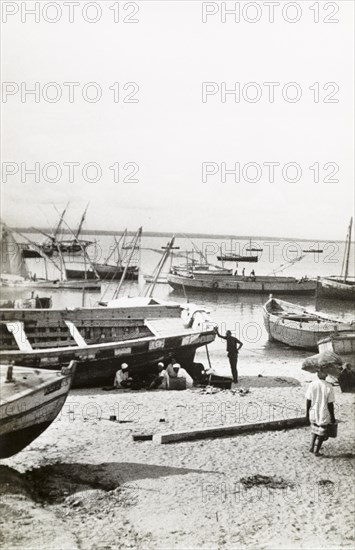
[[[259, 11], [255, 6], [245, 11], [248, 2], [227, 2], [241, 10], [241, 20], [229, 15], [223, 23], [217, 2], [101, 1], [100, 20], [89, 23], [84, 17], [92, 20], [99, 11], [80, 2], [70, 23], [63, 2], [40, 2], [38, 22], [25, 13], [21, 22], [22, 5], [33, 8], [34, 2], [2, 2], [3, 10], [10, 6], [6, 13], [19, 7], [18, 13], [2, 14], [3, 21], [7, 17], [2, 73], [8, 83], [2, 103], [3, 172], [18, 166], [2, 183], [3, 219], [10, 225], [48, 226], [56, 219], [52, 205], [63, 208], [70, 200], [68, 221], [76, 224], [90, 200], [87, 227], [92, 229], [143, 225], [150, 231], [345, 238], [353, 209], [354, 4], [338, 1], [326, 9], [327, 2], [319, 2], [316, 14], [313, 1], [295, 2], [301, 17], [289, 23], [282, 17], [285, 3], [275, 7], [270, 23], [264, 2], [249, 2]], [[297, 18], [296, 8], [286, 17]], [[216, 11], [206, 23], [203, 9]], [[55, 23], [45, 20], [55, 17]], [[21, 88], [34, 89], [36, 82], [39, 101], [24, 94], [21, 100]], [[70, 102], [64, 83], [73, 82], [78, 85], [72, 86]], [[87, 87], [90, 82], [95, 86]], [[139, 90], [132, 84], [125, 89], [130, 82]], [[208, 90], [215, 92], [205, 102], [203, 82], [214, 83]], [[273, 103], [265, 82], [280, 84]], [[222, 83], [228, 89], [240, 83], [240, 100], [223, 97]], [[93, 99], [98, 90], [99, 101], [83, 99], [83, 94]], [[291, 102], [300, 92], [300, 100]], [[48, 101], [56, 94], [58, 101]], [[33, 169], [36, 162], [40, 181], [25, 173], [21, 181], [21, 163]], [[270, 165], [264, 164], [270, 162], [280, 164], [273, 182]], [[60, 166], [59, 181], [46, 181], [55, 176], [54, 168], [45, 173], [47, 163]], [[80, 163], [72, 182], [64, 163]], [[99, 181], [85, 181], [87, 163], [100, 165]], [[119, 182], [110, 170], [115, 163]], [[205, 171], [215, 172], [206, 181], [203, 163], [208, 163]], [[223, 167], [236, 163], [241, 181], [233, 174], [222, 181]], [[295, 163], [302, 175], [294, 166], [283, 174], [287, 163]], [[139, 181], [123, 182], [135, 167], [139, 171], [131, 179]], [[86, 179], [93, 176], [88, 169]], [[324, 181], [327, 176], [339, 181]]]

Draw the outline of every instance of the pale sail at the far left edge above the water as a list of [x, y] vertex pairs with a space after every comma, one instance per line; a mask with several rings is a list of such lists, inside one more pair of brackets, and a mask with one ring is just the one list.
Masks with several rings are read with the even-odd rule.
[[22, 258], [21, 248], [16, 242], [11, 229], [1, 223], [0, 235], [0, 274], [28, 276], [25, 260]]

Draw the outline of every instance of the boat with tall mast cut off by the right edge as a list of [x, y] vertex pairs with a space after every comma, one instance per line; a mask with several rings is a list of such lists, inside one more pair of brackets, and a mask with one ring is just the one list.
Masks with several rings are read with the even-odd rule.
[[353, 219], [351, 218], [346, 236], [341, 274], [339, 277], [330, 276], [318, 279], [317, 296], [320, 298], [348, 301], [354, 301], [355, 299], [355, 278], [349, 277], [352, 225]]

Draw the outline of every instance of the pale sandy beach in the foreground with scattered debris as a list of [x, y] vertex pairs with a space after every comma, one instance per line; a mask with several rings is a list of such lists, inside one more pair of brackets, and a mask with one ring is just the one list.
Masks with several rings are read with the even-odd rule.
[[353, 548], [354, 396], [339, 387], [339, 435], [323, 457], [309, 452], [308, 427], [133, 441], [304, 415], [314, 375], [298, 360], [245, 357], [239, 370], [232, 391], [213, 394], [71, 391], [52, 426], [2, 462], [3, 547]]

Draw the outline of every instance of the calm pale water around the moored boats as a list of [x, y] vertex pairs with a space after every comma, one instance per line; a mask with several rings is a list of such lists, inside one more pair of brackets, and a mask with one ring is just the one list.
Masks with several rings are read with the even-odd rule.
[[[37, 240], [41, 240], [38, 235], [33, 236]], [[97, 235], [84, 236], [89, 240], [96, 240], [96, 244], [88, 249], [90, 257], [95, 261], [103, 261], [113, 246], [113, 239], [108, 236]], [[122, 287], [122, 296], [137, 296], [144, 289], [143, 273], [152, 273], [156, 264], [158, 263], [161, 255], [152, 249], [161, 249], [167, 243], [166, 237], [143, 237], [142, 238], [142, 251], [141, 251], [141, 274], [139, 281], [127, 281]], [[221, 247], [222, 251], [233, 250], [236, 253], [242, 253], [243, 247], [249, 247], [249, 241], [239, 241], [239, 245], [233, 244], [231, 248], [230, 240], [210, 240], [210, 239], [194, 239], [195, 244], [206, 252], [209, 262], [218, 264], [216, 259], [217, 253], [219, 253]], [[180, 251], [186, 249], [192, 250], [193, 246], [189, 239], [177, 239], [176, 246], [180, 247]], [[239, 247], [238, 247], [239, 246]], [[304, 241], [267, 241], [265, 239], [259, 239], [253, 241], [252, 246], [263, 248], [262, 253], [259, 254], [258, 263], [244, 263], [239, 264], [238, 270], [241, 273], [243, 267], [245, 267], [246, 274], [249, 274], [252, 269], [255, 270], [256, 275], [270, 274], [273, 270], [279, 266], [289, 266], [285, 271], [280, 274], [302, 277], [307, 275], [308, 277], [314, 277], [317, 275], [339, 275], [341, 272], [341, 266], [344, 255], [344, 243], [332, 242], [332, 243], [310, 243]], [[309, 248], [323, 249], [323, 254], [310, 253], [306, 254], [305, 258], [294, 265], [290, 265], [295, 257], [299, 256], [303, 249]], [[244, 251], [245, 252], [245, 251]], [[197, 254], [195, 254], [197, 259]], [[174, 263], [184, 263], [186, 259], [176, 258]], [[44, 275], [43, 260], [31, 259], [27, 261], [29, 269], [36, 273], [37, 276]], [[71, 266], [75, 266], [78, 263], [76, 257], [68, 258], [68, 263]], [[350, 265], [354, 264], [354, 249], [351, 250]], [[169, 268], [170, 261], [168, 260], [167, 268]], [[219, 263], [220, 265], [220, 263]], [[235, 268], [235, 264], [226, 264], [227, 267]], [[50, 278], [58, 278], [58, 272], [53, 267], [49, 267]], [[353, 274], [353, 273], [351, 273]], [[109, 299], [116, 286], [112, 284], [107, 288], [107, 283], [104, 283], [102, 290], [106, 290], [105, 299]], [[39, 291], [40, 296], [52, 295], [53, 307], [74, 307], [82, 304], [82, 293], [80, 291], [52, 291], [42, 290]], [[2, 289], [2, 299], [13, 299], [20, 297], [29, 297], [30, 291], [18, 291], [15, 289]], [[185, 296], [177, 291], [173, 291], [169, 285], [158, 284], [156, 286], [154, 296], [162, 298], [164, 300], [175, 302], [186, 302]], [[93, 306], [100, 297], [100, 293], [87, 293], [85, 296], [85, 305]], [[277, 343], [269, 343], [267, 333], [263, 326], [262, 320], [262, 305], [266, 301], [266, 296], [251, 296], [244, 295], [235, 297], [229, 294], [212, 294], [212, 293], [189, 293], [188, 299], [190, 302], [204, 305], [211, 311], [211, 318], [216, 321], [220, 330], [224, 331], [230, 329], [235, 332], [245, 344], [244, 357], [247, 359], [249, 365], [253, 362], [260, 364], [260, 358], [266, 362], [273, 362], [274, 359], [280, 359], [287, 357], [294, 361], [300, 361], [302, 358], [310, 355], [309, 352], [289, 350], [285, 346], [280, 346]], [[301, 304], [309, 309], [321, 310], [334, 317], [351, 320], [354, 318], [354, 307], [350, 303], [337, 302], [337, 301], [324, 301], [319, 302], [316, 306], [315, 298], [313, 296], [307, 297], [282, 297], [286, 300], [293, 301]], [[214, 355], [217, 363], [225, 364], [225, 346], [223, 341], [217, 340], [212, 345], [212, 355]], [[222, 361], [223, 358], [223, 361]], [[255, 360], [255, 361], [254, 361]]]

